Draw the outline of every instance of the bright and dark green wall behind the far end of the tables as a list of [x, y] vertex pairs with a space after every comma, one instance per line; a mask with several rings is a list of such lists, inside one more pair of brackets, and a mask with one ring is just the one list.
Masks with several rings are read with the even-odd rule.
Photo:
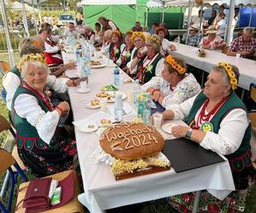
[[[100, 16], [113, 20], [119, 26], [121, 32], [126, 32], [134, 26], [138, 20], [142, 26], [146, 26], [146, 16], [148, 14], [148, 26], [153, 22], [160, 23], [162, 16], [161, 8], [147, 8], [148, 0], [137, 0], [137, 5], [84, 5], [85, 23], [92, 29]], [[147, 13], [148, 9], [148, 13]], [[170, 29], [179, 29], [183, 25], [182, 7], [171, 7], [165, 9], [165, 22]]]

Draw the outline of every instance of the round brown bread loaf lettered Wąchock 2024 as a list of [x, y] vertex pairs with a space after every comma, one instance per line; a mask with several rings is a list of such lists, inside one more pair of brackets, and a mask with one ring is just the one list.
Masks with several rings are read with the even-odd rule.
[[121, 123], [108, 127], [100, 137], [100, 144], [113, 158], [132, 160], [160, 153], [164, 138], [146, 124]]

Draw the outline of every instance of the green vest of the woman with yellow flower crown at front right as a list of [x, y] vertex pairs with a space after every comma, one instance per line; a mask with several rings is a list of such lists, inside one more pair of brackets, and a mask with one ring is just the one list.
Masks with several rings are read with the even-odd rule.
[[[191, 108], [189, 112], [189, 116], [187, 118], [187, 124], [189, 124], [189, 126], [193, 126], [193, 124], [195, 123], [195, 114], [200, 110], [202, 104], [206, 100], [207, 100], [207, 96], [204, 95], [203, 92], [201, 92], [201, 94], [195, 98], [193, 107]], [[245, 107], [243, 102], [240, 100], [240, 98], [236, 95], [235, 92], [232, 92], [229, 99], [224, 103], [222, 107], [218, 109], [218, 112], [214, 115], [214, 117], [210, 121], [213, 125], [214, 133], [218, 134], [219, 124], [221, 123], [221, 121], [232, 109], [236, 109], [236, 108], [240, 108], [244, 111], [247, 111], [247, 108]], [[251, 124], [249, 124], [242, 138], [241, 146], [236, 150], [235, 153], [231, 153], [225, 156], [226, 158], [229, 159], [232, 170], [242, 170], [244, 166], [248, 166], [252, 164], [252, 161], [250, 158], [251, 157], [251, 153], [250, 153], [251, 134], [252, 134], [252, 126]]]

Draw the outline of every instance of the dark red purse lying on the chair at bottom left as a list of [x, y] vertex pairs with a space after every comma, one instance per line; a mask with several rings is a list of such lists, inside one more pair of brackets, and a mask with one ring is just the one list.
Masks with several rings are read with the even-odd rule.
[[[22, 207], [26, 208], [26, 213], [37, 213], [45, 210], [59, 208], [74, 196], [74, 174], [70, 173], [63, 180], [59, 181], [58, 187], [62, 188], [61, 203], [51, 205], [49, 199], [49, 187], [52, 181], [51, 177], [35, 179], [29, 182], [26, 189], [25, 198], [20, 200], [16, 209], [23, 202]], [[22, 188], [20, 189], [22, 190]]]

